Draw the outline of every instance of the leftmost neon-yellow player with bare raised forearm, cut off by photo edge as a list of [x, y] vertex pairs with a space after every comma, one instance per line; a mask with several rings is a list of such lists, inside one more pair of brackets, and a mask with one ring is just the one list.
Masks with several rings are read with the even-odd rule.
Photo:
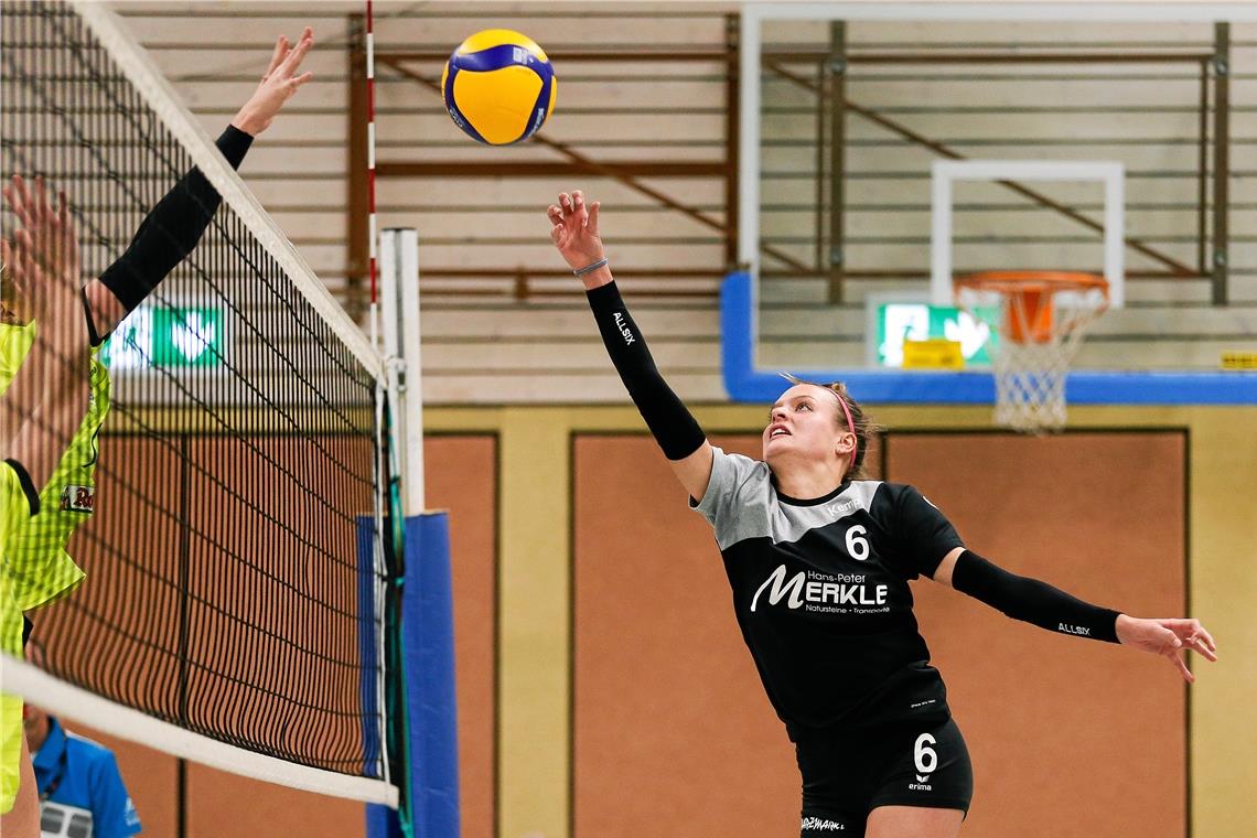
[[[87, 323], [79, 297], [78, 240], [65, 196], [53, 212], [38, 200], [13, 244], [0, 241], [3, 281], [21, 288], [31, 313], [47, 323], [26, 363], [0, 400], [0, 651], [21, 655], [23, 592], [63, 583], [55, 562], [40, 568], [10, 563], [9, 535], [40, 511], [36, 486], [48, 481], [87, 408]], [[73, 563], [65, 560], [73, 570]], [[31, 572], [38, 570], [36, 578]], [[0, 833], [36, 838], [39, 800], [21, 730], [21, 700], [0, 695]]]

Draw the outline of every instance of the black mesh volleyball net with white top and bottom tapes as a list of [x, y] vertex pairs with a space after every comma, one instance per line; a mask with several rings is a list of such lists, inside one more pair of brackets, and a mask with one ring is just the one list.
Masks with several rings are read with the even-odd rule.
[[380, 352], [113, 13], [5, 3], [0, 20], [4, 173], [67, 192], [84, 280], [171, 190], [212, 187], [180, 197], [204, 235], [97, 353], [112, 395], [94, 485], [59, 510], [83, 515], [67, 550], [87, 579], [31, 612], [41, 660], [5, 657], [4, 688], [177, 756], [396, 805]]

